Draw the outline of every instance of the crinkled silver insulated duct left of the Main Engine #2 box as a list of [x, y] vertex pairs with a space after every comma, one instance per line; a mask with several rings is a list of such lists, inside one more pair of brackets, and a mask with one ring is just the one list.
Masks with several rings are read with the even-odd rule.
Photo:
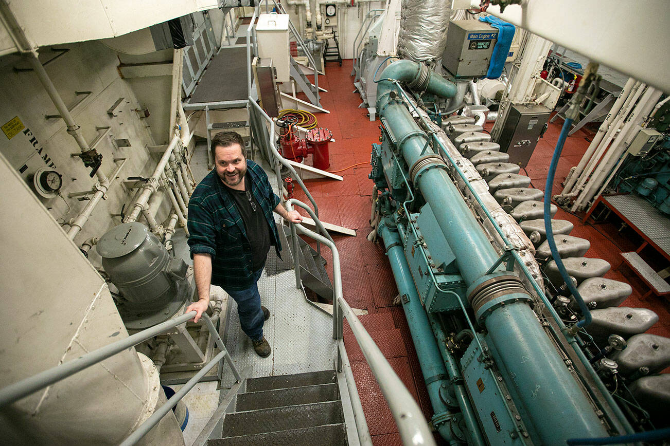
[[446, 47], [451, 2], [403, 0], [398, 55], [434, 68]]

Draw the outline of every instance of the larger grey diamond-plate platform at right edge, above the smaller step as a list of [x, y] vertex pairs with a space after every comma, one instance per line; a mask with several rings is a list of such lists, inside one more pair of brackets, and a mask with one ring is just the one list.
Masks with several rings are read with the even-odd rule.
[[670, 221], [645, 199], [636, 195], [602, 197], [649, 239], [670, 255]]

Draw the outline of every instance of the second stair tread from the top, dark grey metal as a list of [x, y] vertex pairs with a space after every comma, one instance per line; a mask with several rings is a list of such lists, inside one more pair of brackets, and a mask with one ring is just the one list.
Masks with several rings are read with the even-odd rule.
[[323, 403], [324, 401], [336, 401], [339, 398], [340, 393], [336, 383], [279, 388], [270, 391], [241, 393], [237, 397], [237, 411]]

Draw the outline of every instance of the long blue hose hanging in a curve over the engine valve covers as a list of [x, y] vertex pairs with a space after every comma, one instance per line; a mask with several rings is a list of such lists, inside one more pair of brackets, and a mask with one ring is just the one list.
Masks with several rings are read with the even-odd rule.
[[558, 165], [559, 158], [561, 158], [563, 144], [565, 143], [565, 138], [567, 138], [567, 132], [569, 132], [570, 126], [572, 126], [572, 119], [567, 118], [563, 123], [561, 134], [559, 134], [558, 141], [556, 142], [556, 148], [553, 150], [551, 164], [549, 164], [549, 172], [547, 172], [547, 184], [545, 185], [544, 221], [545, 231], [547, 232], [547, 243], [549, 243], [549, 249], [551, 249], [551, 257], [553, 257], [554, 261], [556, 262], [556, 267], [558, 268], [559, 273], [561, 273], [561, 277], [563, 278], [563, 281], [565, 281], [567, 289], [570, 291], [570, 293], [572, 293], [572, 296], [574, 296], [577, 304], [580, 306], [580, 310], [582, 310], [582, 314], [584, 315], [584, 319], [580, 320], [580, 322], [577, 323], [577, 326], [584, 327], [591, 323], [591, 312], [586, 307], [586, 304], [584, 304], [584, 299], [582, 299], [582, 296], [577, 291], [577, 288], [575, 288], [572, 280], [570, 280], [570, 276], [567, 274], [567, 271], [565, 271], [565, 265], [563, 265], [561, 256], [558, 255], [556, 242], [553, 239], [553, 230], [551, 229], [551, 188], [553, 187], [553, 177], [556, 173], [556, 166]]

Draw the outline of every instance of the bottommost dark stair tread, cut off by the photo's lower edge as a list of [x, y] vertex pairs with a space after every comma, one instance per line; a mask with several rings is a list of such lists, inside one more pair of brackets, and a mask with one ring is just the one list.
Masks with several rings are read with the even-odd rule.
[[342, 423], [226, 437], [207, 442], [208, 446], [344, 446], [346, 444], [346, 431]]

